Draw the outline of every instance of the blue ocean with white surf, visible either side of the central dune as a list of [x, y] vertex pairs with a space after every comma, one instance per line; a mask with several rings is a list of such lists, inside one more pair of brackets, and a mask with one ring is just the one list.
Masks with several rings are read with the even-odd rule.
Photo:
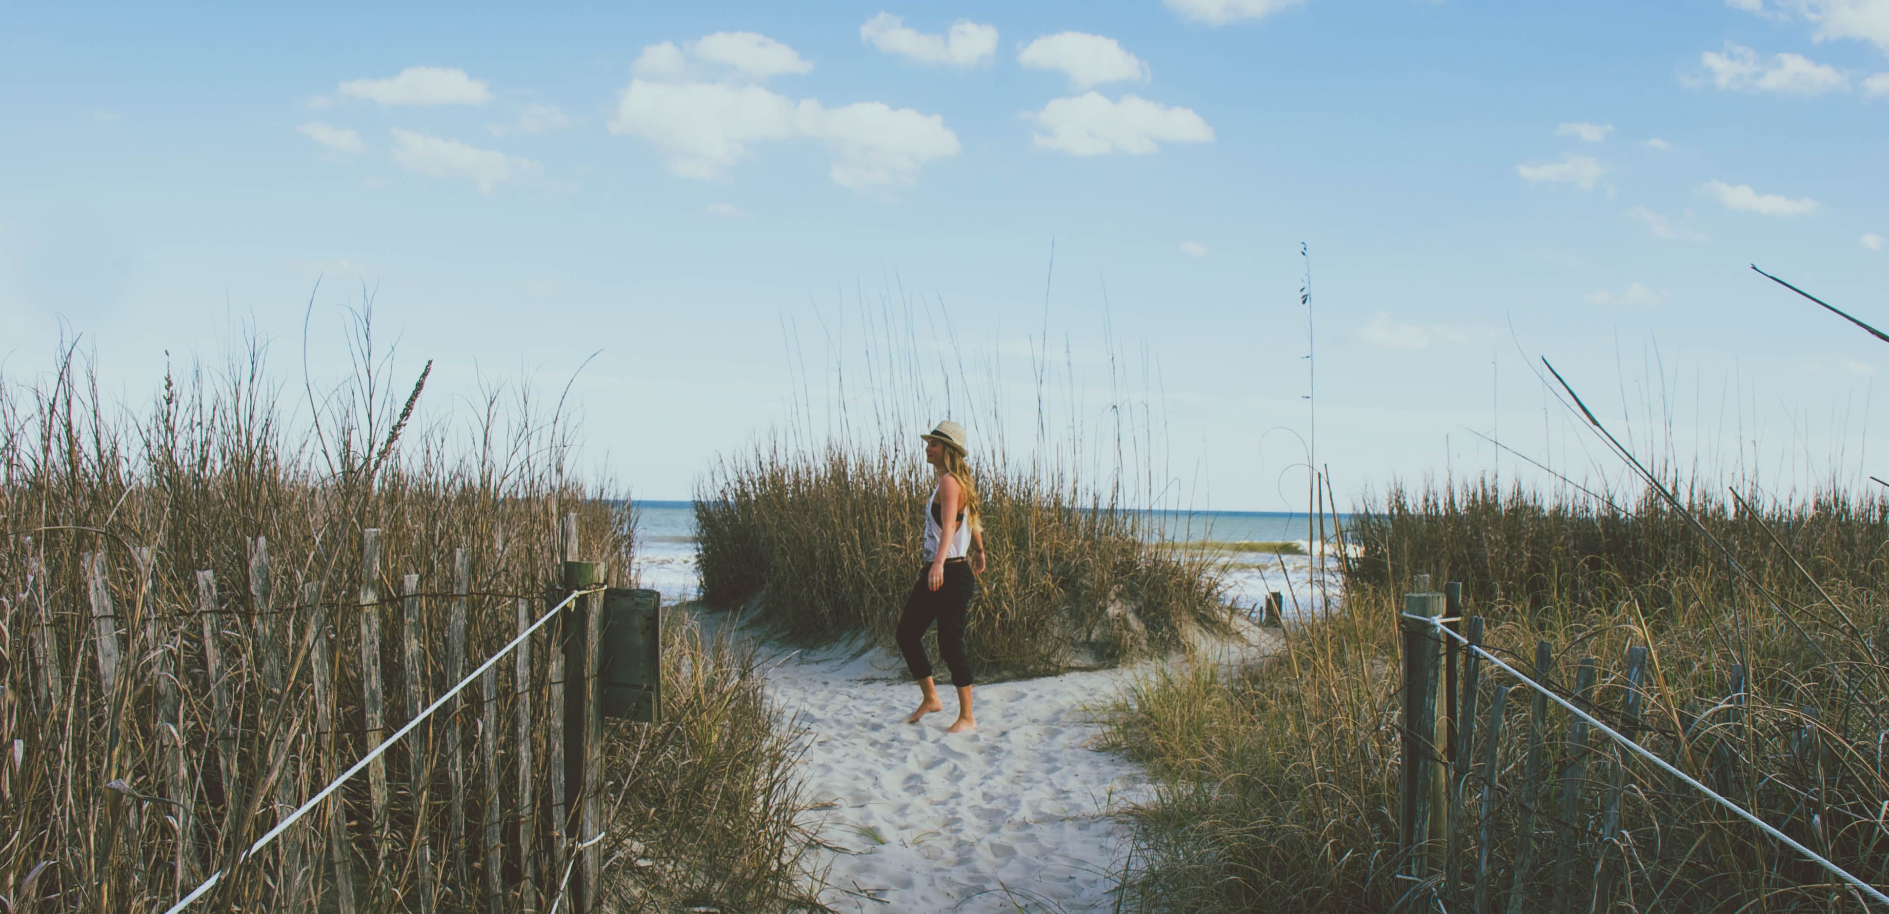
[[[689, 601], [701, 593], [695, 572], [695, 504], [672, 500], [631, 502], [637, 519], [638, 585], [661, 591], [665, 601]], [[1336, 591], [1336, 551], [1311, 555], [1303, 512], [1135, 512], [1143, 517], [1143, 538], [1181, 542], [1292, 542], [1300, 553], [1215, 551], [1224, 563], [1226, 599], [1252, 610], [1266, 595], [1279, 591], [1286, 614], [1311, 612], [1326, 589]], [[1337, 516], [1337, 525], [1351, 517]], [[1315, 533], [1317, 534], [1317, 533]], [[1326, 538], [1337, 542], [1332, 519]], [[1330, 587], [1326, 587], [1330, 585]]]

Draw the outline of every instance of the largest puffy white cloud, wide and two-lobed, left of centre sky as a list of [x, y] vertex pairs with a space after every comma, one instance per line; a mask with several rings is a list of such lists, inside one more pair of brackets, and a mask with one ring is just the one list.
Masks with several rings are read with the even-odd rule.
[[958, 134], [941, 115], [882, 102], [827, 110], [759, 85], [657, 83], [633, 79], [610, 119], [669, 157], [684, 178], [723, 178], [763, 140], [808, 138], [833, 153], [831, 178], [852, 189], [910, 183], [931, 159], [958, 153]]

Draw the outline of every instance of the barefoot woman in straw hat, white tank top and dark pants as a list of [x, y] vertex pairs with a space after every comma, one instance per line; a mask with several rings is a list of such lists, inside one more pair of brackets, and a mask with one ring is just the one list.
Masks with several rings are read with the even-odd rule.
[[905, 653], [905, 667], [924, 691], [924, 701], [907, 723], [935, 710], [944, 710], [939, 691], [931, 682], [931, 661], [926, 657], [924, 636], [933, 621], [939, 623], [939, 653], [950, 667], [952, 686], [958, 687], [958, 721], [944, 733], [965, 733], [977, 729], [971, 716], [971, 663], [963, 655], [963, 623], [971, 597], [977, 595], [977, 576], [984, 574], [984, 531], [977, 514], [977, 487], [971, 483], [971, 466], [963, 463], [963, 427], [944, 419], [922, 434], [926, 440], [926, 463], [937, 474], [937, 485], [926, 502], [926, 570], [912, 584], [912, 595], [905, 601], [905, 614], [899, 616], [899, 652]]

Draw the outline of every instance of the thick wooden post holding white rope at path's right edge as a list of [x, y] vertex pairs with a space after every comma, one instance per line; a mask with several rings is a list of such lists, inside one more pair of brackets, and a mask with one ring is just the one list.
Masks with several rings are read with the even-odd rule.
[[[1428, 576], [1417, 576], [1428, 584]], [[1415, 618], [1413, 618], [1415, 616]], [[1404, 618], [1404, 852], [1411, 876], [1424, 876], [1430, 869], [1430, 837], [1434, 810], [1434, 772], [1441, 770], [1436, 744], [1436, 691], [1439, 650], [1432, 633], [1436, 619], [1443, 616], [1441, 593], [1405, 593]]]

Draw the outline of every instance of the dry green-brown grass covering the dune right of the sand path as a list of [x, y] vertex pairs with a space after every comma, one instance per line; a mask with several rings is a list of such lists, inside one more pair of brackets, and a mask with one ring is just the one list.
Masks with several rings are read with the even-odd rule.
[[[1734, 517], [1694, 495], [1696, 514], [1779, 614], [1755, 587], [1728, 584], [1725, 557], [1700, 550], [1666, 508], [1496, 495], [1487, 483], [1394, 491], [1353, 525], [1368, 553], [1339, 610], [1292, 625], [1262, 665], [1154, 674], [1116, 704], [1113, 742], [1160, 784], [1137, 812], [1130, 901], [1188, 912], [1428, 908], [1439, 880], [1396, 876], [1396, 614], [1419, 572], [1460, 580], [1466, 612], [1489, 623], [1485, 642], [1517, 669], [1530, 670], [1536, 640], [1547, 640], [1549, 682], [1562, 695], [1575, 663], [1596, 657], [1602, 719], [1621, 719], [1621, 655], [1651, 646], [1638, 740], [1849, 872], [1889, 884], [1889, 502], [1825, 493]], [[1736, 665], [1751, 670], [1749, 693], [1728, 701]], [[1485, 710], [1502, 682], [1513, 684], [1485, 674]], [[1490, 818], [1500, 910], [1589, 910], [1596, 872], [1613, 878], [1611, 910], [1866, 910], [1829, 872], [1600, 735], [1581, 755], [1587, 793], [1564, 820], [1568, 718], [1547, 716], [1547, 784], [1523, 795], [1530, 697], [1517, 689], [1507, 704]], [[1623, 831], [1602, 842], [1615, 761]], [[1481, 772], [1466, 808], [1472, 848], [1479, 787]], [[1538, 808], [1526, 835], [1524, 804]], [[1579, 865], [1557, 891], [1562, 837], [1577, 842]], [[1506, 899], [1530, 842], [1534, 863]], [[1464, 886], [1473, 859], [1466, 854], [1458, 872]], [[1608, 869], [1596, 871], [1600, 861]]]

